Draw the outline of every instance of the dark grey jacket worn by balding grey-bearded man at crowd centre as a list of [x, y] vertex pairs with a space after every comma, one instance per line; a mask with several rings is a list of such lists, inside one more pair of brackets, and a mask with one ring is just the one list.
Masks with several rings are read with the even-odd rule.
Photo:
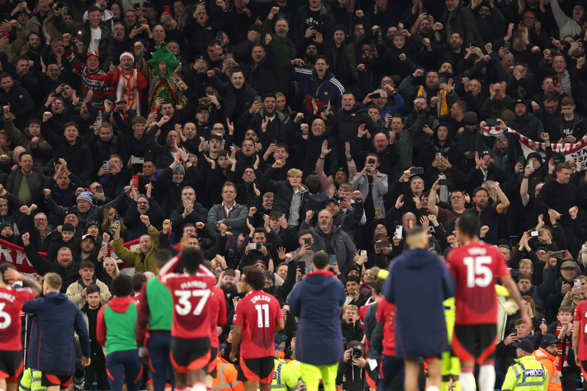
[[[306, 220], [303, 220], [302, 224], [299, 226], [299, 230], [304, 229], [312, 231], [314, 237], [312, 251], [314, 251], [314, 253], [318, 253], [318, 251], [328, 252], [328, 248], [331, 247], [333, 253], [329, 254], [336, 256], [336, 263], [338, 264], [340, 273], [346, 276], [346, 274], [349, 273], [350, 268], [355, 266], [353, 258], [357, 253], [357, 247], [350, 239], [349, 234], [338, 229], [335, 225], [332, 226], [329, 234], [325, 234], [318, 225], [310, 227], [306, 223]], [[328, 240], [330, 243], [327, 243]]]

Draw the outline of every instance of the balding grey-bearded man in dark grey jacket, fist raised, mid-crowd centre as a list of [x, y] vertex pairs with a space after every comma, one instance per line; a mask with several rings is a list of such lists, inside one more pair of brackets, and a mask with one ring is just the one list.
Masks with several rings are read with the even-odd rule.
[[326, 251], [329, 255], [336, 256], [336, 263], [338, 264], [340, 273], [347, 274], [351, 267], [355, 265], [355, 254], [357, 247], [350, 239], [349, 234], [339, 230], [338, 227], [332, 224], [332, 214], [322, 209], [318, 213], [318, 224], [315, 227], [310, 227], [310, 220], [314, 216], [312, 210], [306, 212], [306, 219], [303, 220], [299, 226], [300, 231], [309, 229], [312, 232], [313, 243], [312, 251]]

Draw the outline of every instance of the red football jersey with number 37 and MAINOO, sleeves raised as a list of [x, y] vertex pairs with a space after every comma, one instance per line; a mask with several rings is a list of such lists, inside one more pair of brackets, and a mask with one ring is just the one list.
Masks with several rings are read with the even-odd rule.
[[170, 273], [178, 263], [178, 257], [170, 260], [161, 268], [158, 276], [173, 299], [171, 335], [178, 338], [210, 338], [212, 311], [210, 305], [206, 304], [216, 285], [216, 277], [202, 265], [194, 275]]

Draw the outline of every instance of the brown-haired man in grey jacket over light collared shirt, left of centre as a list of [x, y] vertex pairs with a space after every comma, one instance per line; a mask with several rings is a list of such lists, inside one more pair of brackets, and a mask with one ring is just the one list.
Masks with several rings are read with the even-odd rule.
[[237, 197], [237, 187], [232, 182], [225, 182], [222, 186], [222, 203], [218, 203], [208, 212], [208, 225], [216, 232], [218, 226], [224, 223], [232, 237], [228, 239], [227, 248], [234, 247], [239, 234], [247, 226], [248, 209], [245, 205], [239, 205], [234, 200]]

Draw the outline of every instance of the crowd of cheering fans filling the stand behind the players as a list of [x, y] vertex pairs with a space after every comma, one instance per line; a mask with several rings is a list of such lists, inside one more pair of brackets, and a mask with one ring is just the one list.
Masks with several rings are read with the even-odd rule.
[[[122, 263], [138, 294], [162, 249], [201, 249], [231, 319], [244, 267], [263, 271], [287, 315], [325, 251], [346, 289], [343, 335], [364, 349], [359, 313], [406, 234], [421, 227], [447, 256], [471, 214], [532, 318], [501, 329], [495, 387], [511, 344], [538, 349], [548, 332], [563, 341], [563, 389], [575, 389], [564, 335], [587, 298], [587, 170], [552, 144], [587, 134], [587, 3], [8, 0], [0, 11], [0, 239], [58, 274], [90, 319], [86, 387], [94, 375], [109, 387], [91, 321]], [[485, 135], [491, 123], [506, 131]], [[544, 150], [524, 154], [508, 128]], [[295, 328], [286, 317], [286, 355]], [[346, 389], [369, 386], [340, 368]]]

